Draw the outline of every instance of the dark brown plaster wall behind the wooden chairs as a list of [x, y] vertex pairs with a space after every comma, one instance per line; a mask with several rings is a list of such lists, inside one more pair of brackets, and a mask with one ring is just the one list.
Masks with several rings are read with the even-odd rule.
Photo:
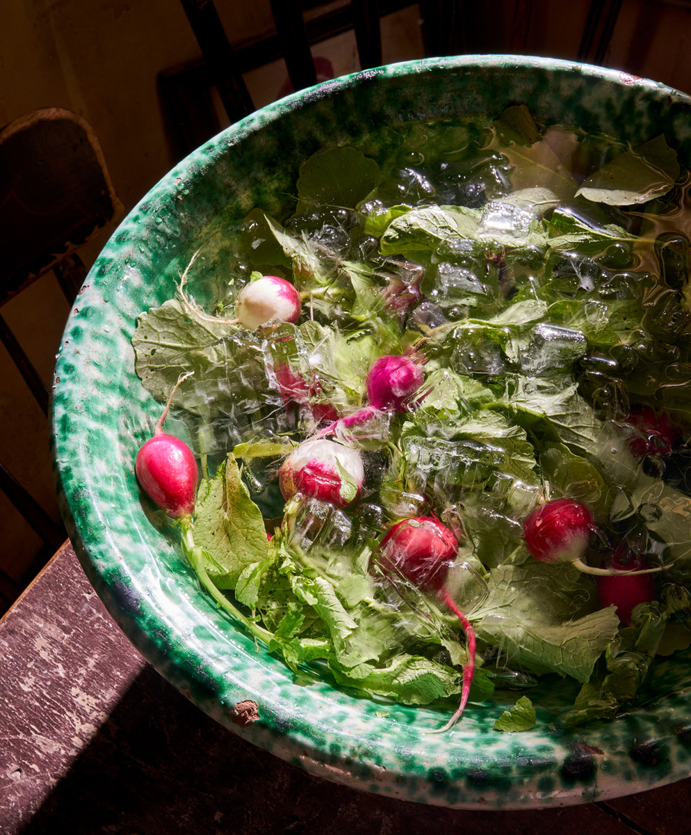
[[[336, 0], [335, 5], [345, 0]], [[269, 0], [217, 0], [233, 43], [270, 30]], [[589, 3], [494, 0], [459, 4], [468, 52], [507, 52], [576, 58]], [[386, 21], [384, 62], [422, 55], [420, 13], [413, 6]], [[628, 0], [604, 63], [691, 90], [688, 3]], [[358, 67], [351, 36], [314, 50], [331, 58], [335, 73]], [[3, 0], [0, 4], [0, 125], [29, 110], [63, 107], [92, 125], [114, 188], [131, 208], [176, 161], [165, 133], [157, 75], [199, 58], [179, 0]], [[250, 73], [258, 105], [274, 99], [285, 81], [282, 61]], [[83, 248], [91, 263], [112, 229]], [[49, 381], [68, 305], [52, 276], [3, 307]], [[40, 329], [36, 322], [43, 324]], [[40, 338], [39, 338], [40, 337]], [[3, 460], [58, 517], [48, 456], [48, 429], [7, 355], [0, 351], [0, 438]], [[38, 551], [23, 520], [0, 495], [0, 568], [21, 581]]]

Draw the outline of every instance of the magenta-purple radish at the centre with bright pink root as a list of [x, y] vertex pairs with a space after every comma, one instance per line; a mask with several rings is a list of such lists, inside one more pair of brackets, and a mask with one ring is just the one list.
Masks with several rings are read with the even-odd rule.
[[418, 358], [392, 354], [379, 357], [367, 372], [368, 405], [353, 415], [340, 417], [322, 429], [320, 435], [332, 434], [339, 427], [349, 429], [366, 423], [376, 412], [405, 412], [415, 402], [424, 379], [421, 362]]

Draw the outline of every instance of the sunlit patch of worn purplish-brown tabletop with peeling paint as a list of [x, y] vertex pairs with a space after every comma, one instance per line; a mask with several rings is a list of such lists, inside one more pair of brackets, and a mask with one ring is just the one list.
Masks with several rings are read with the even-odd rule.
[[0, 621], [0, 828], [30, 820], [146, 664], [71, 546], [53, 560]]

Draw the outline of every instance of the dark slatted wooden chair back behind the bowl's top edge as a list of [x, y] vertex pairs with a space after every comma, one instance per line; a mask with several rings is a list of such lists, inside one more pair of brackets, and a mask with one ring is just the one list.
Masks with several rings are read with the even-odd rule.
[[[352, 30], [361, 68], [381, 64], [381, 18], [411, 6], [421, 18], [421, 36], [427, 56], [462, 53], [522, 52], [527, 35], [531, 3], [525, 3], [521, 29], [511, 43], [501, 43], [482, 4], [460, 0], [351, 0], [325, 3], [320, 0], [270, 0], [274, 31], [250, 43], [231, 44], [216, 6], [226, 0], [179, 0], [189, 20], [202, 58], [159, 73], [159, 92], [173, 153], [189, 154], [222, 127], [211, 90], [218, 93], [229, 122], [242, 119], [255, 109], [243, 73], [285, 59], [292, 89], [316, 81], [310, 47]], [[578, 45], [578, 56], [589, 63], [603, 63], [621, 0], [592, 0]], [[307, 15], [306, 13], [309, 13]], [[575, 52], [575, 50], [574, 50]]]

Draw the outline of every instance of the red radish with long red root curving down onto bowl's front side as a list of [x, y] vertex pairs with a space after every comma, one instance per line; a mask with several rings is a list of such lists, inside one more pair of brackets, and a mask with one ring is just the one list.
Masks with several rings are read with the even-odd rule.
[[402, 575], [416, 588], [434, 592], [456, 615], [466, 635], [468, 660], [463, 669], [461, 703], [446, 725], [431, 733], [447, 731], [456, 724], [467, 704], [475, 673], [475, 630], [446, 589], [449, 566], [457, 553], [458, 542], [446, 525], [432, 516], [417, 516], [395, 524], [373, 557], [389, 579]]

